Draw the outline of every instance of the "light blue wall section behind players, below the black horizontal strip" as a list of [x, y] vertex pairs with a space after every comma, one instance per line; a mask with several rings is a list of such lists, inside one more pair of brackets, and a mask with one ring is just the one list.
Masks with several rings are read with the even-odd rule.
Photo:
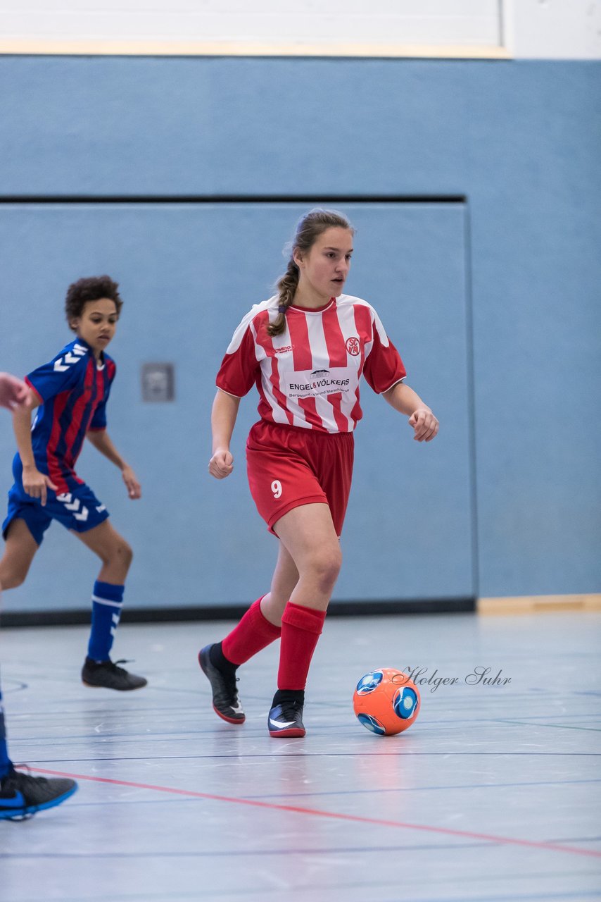
[[[33, 315], [54, 310], [48, 331], [14, 341], [6, 364], [21, 372], [62, 344], [59, 298], [73, 272], [111, 272], [125, 307], [111, 352], [118, 380], [109, 433], [143, 485], [125, 501], [115, 471], [87, 447], [78, 473], [92, 484], [136, 549], [128, 603], [243, 602], [259, 594], [273, 564], [269, 538], [250, 500], [244, 442], [257, 419], [251, 392], [241, 405], [232, 451], [236, 472], [206, 473], [214, 376], [233, 328], [253, 301], [269, 296], [282, 266], [282, 236], [306, 205], [291, 203], [23, 204], [0, 207], [5, 318], [23, 317], [23, 260]], [[362, 392], [365, 425], [342, 538], [349, 560], [337, 598], [465, 598], [473, 595], [465, 205], [355, 203], [345, 211], [360, 253], [351, 290], [373, 300], [405, 357], [411, 382], [445, 422], [444, 442], [416, 445], [406, 422]], [[434, 264], [434, 265], [433, 265]], [[427, 351], [436, 348], [435, 360]], [[425, 353], [424, 353], [425, 351]], [[141, 365], [169, 360], [176, 398], [143, 403]], [[370, 397], [371, 395], [371, 397]], [[4, 433], [10, 456], [10, 430]], [[113, 479], [110, 479], [111, 473]], [[364, 537], [369, 535], [369, 542]], [[34, 603], [81, 604], [83, 558], [51, 530], [27, 583], [10, 595]], [[41, 563], [43, 561], [43, 564]], [[62, 574], [48, 588], [47, 571]], [[89, 581], [89, 565], [87, 565]], [[49, 594], [50, 591], [50, 594]]]

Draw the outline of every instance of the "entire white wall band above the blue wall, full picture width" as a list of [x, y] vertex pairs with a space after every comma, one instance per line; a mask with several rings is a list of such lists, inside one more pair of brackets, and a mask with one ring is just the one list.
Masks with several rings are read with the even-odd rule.
[[0, 53], [601, 59], [601, 0], [0, 0]]

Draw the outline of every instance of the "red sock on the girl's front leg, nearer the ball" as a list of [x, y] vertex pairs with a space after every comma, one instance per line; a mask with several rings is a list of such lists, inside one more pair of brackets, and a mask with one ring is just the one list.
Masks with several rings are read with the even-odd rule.
[[278, 689], [304, 689], [325, 611], [288, 602], [282, 615]]

